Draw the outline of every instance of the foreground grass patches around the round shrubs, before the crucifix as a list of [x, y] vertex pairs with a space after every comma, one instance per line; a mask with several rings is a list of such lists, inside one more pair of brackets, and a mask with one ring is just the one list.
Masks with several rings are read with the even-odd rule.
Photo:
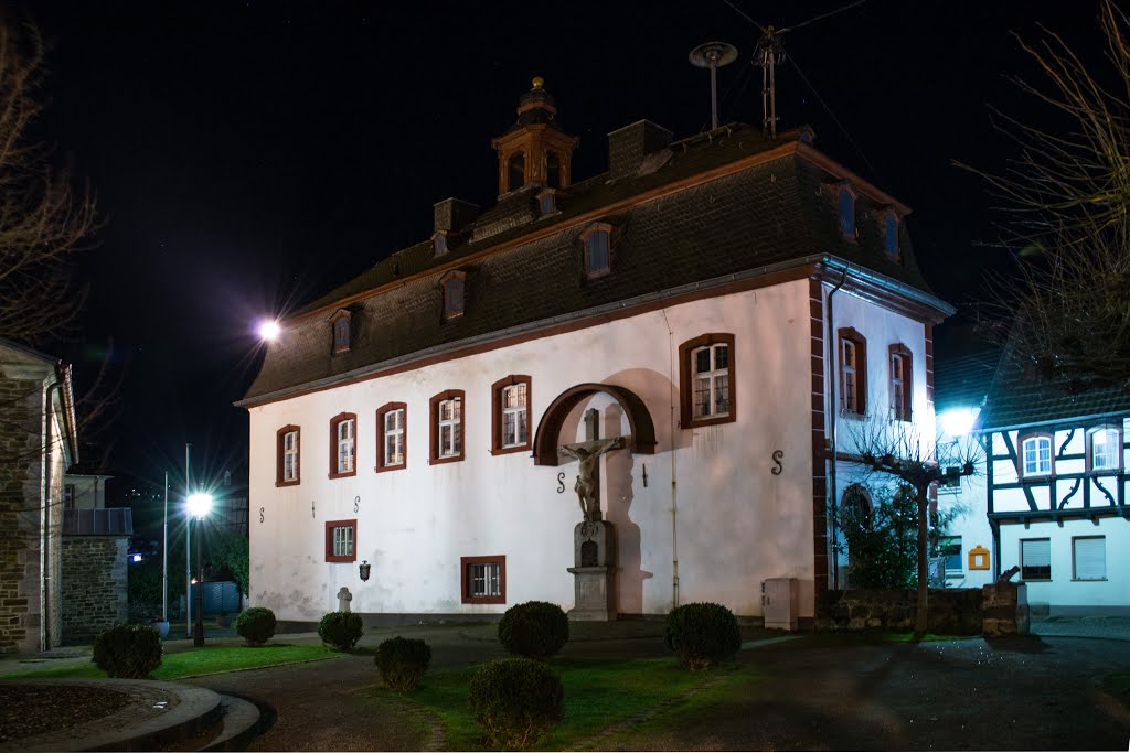
[[[688, 706], [709, 703], [719, 693], [728, 694], [757, 682], [748, 668], [730, 665], [722, 671], [687, 672], [675, 658], [654, 659], [554, 659], [565, 685], [565, 719], [534, 750], [577, 750], [585, 741], [608, 727], [663, 711], [652, 724], [667, 718], [671, 726], [680, 723], [679, 713]], [[383, 686], [367, 691], [377, 703], [407, 701], [437, 716], [444, 726], [446, 748], [457, 751], [488, 750], [484, 732], [471, 718], [467, 689], [476, 667], [464, 667], [425, 675], [411, 693], [393, 693]], [[698, 692], [679, 700], [689, 691]], [[668, 706], [663, 706], [668, 704]], [[597, 741], [601, 747], [603, 741]]]

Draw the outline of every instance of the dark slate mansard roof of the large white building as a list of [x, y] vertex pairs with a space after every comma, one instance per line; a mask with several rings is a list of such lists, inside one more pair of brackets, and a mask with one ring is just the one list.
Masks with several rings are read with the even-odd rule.
[[[539, 216], [538, 186], [504, 194], [449, 235], [446, 254], [436, 257], [431, 242], [416, 244], [313, 301], [284, 323], [241, 404], [814, 254], [838, 256], [932, 296], [905, 222], [902, 262], [884, 252], [883, 212], [905, 217], [910, 210], [802, 142], [798, 131], [770, 139], [748, 125], [727, 125], [647, 155], [626, 177], [608, 175], [559, 190], [558, 212], [548, 217]], [[858, 243], [840, 235], [842, 180], [859, 194]], [[611, 272], [589, 280], [580, 236], [598, 221], [614, 228]], [[453, 269], [467, 273], [464, 313], [445, 321], [440, 278]], [[353, 312], [353, 342], [334, 356], [329, 317], [342, 307]]]

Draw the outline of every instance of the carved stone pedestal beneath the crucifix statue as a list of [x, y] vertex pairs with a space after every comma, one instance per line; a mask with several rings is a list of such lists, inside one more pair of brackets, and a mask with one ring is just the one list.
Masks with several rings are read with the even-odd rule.
[[579, 523], [573, 529], [574, 622], [616, 619], [616, 531], [610, 523]]

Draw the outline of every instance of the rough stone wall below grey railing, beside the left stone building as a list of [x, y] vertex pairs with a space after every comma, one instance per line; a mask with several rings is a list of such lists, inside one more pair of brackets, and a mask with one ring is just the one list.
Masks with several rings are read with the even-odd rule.
[[63, 642], [90, 643], [129, 616], [129, 539], [64, 536], [62, 553]]

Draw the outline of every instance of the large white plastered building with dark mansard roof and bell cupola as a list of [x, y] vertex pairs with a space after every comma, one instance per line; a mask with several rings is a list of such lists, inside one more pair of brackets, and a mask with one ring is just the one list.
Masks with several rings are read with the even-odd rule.
[[431, 239], [268, 345], [241, 401], [252, 604], [298, 623], [342, 588], [371, 622], [570, 610], [581, 510], [558, 448], [620, 436], [600, 470], [616, 613], [758, 618], [762, 584], [792, 578], [810, 622], [850, 482], [837, 426], [932, 436], [931, 332], [953, 310], [909, 208], [811, 141], [641, 121], [575, 182], [536, 81], [494, 140], [494, 207], [440, 202]]

